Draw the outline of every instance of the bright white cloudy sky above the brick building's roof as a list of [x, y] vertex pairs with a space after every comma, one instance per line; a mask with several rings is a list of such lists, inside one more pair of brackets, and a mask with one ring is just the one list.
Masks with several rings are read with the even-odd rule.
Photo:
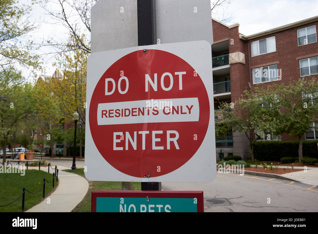
[[239, 23], [239, 32], [248, 36], [318, 15], [318, 0], [234, 0], [225, 23]]

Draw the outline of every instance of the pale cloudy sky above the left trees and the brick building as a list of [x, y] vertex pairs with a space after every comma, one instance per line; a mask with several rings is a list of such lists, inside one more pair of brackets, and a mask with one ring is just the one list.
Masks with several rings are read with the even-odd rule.
[[[29, 0], [19, 0], [28, 2]], [[165, 1], [165, 0], [162, 0]], [[59, 11], [57, 5], [52, 5], [52, 9]], [[218, 9], [221, 13], [225, 9]], [[290, 24], [306, 18], [318, 15], [318, 0], [233, 0], [226, 9], [227, 16], [231, 16], [224, 23], [231, 25], [239, 23], [239, 32], [248, 36], [257, 32], [266, 31], [275, 27]], [[220, 16], [221, 17], [221, 16]], [[215, 16], [217, 18], [217, 16]], [[45, 10], [38, 5], [34, 5], [32, 18], [40, 24], [38, 30], [30, 35], [33, 40], [40, 43], [43, 39], [47, 39], [48, 35], [55, 36], [57, 40], [67, 38], [67, 29], [59, 24], [51, 24], [55, 22], [52, 18], [45, 14]], [[43, 48], [42, 52], [52, 51], [52, 48]], [[41, 53], [41, 52], [39, 52]], [[41, 73], [52, 75], [55, 67], [52, 66], [54, 58], [52, 55], [43, 57], [45, 71], [38, 71], [37, 76]], [[28, 71], [23, 73], [29, 76]], [[29, 80], [34, 78], [30, 77]]]

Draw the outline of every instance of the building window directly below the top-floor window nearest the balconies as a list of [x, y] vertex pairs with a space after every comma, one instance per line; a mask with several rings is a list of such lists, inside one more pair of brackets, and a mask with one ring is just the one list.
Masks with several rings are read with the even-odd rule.
[[268, 82], [268, 81], [277, 81], [278, 77], [278, 69], [277, 64], [266, 66], [266, 67], [258, 67], [252, 69], [253, 74], [253, 84]]

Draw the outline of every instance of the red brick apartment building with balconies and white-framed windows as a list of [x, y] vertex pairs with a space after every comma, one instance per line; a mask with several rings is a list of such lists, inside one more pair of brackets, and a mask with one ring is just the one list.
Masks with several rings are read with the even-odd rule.
[[[270, 79], [277, 84], [313, 74], [318, 82], [318, 16], [292, 24], [259, 32], [250, 36], [239, 33], [239, 24], [225, 25], [215, 19], [213, 23], [212, 65], [214, 97], [221, 102], [235, 102], [244, 90], [256, 84], [268, 85]], [[258, 68], [281, 69], [281, 80], [258, 78]], [[215, 99], [214, 109], [218, 109]], [[318, 139], [318, 122], [311, 123], [313, 131], [303, 139]], [[265, 139], [266, 140], [266, 139]], [[272, 138], [273, 140], [273, 138]], [[282, 135], [274, 140], [297, 140]], [[224, 157], [239, 155], [250, 158], [248, 139], [238, 132], [216, 139], [216, 153]]]

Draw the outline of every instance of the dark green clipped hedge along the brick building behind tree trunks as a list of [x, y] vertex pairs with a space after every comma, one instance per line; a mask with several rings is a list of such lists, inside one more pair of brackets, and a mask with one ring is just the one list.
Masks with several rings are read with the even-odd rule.
[[[318, 140], [304, 140], [302, 153], [304, 157], [317, 158]], [[283, 157], [298, 158], [299, 141], [257, 141], [254, 143], [254, 158], [259, 161], [279, 162]]]

